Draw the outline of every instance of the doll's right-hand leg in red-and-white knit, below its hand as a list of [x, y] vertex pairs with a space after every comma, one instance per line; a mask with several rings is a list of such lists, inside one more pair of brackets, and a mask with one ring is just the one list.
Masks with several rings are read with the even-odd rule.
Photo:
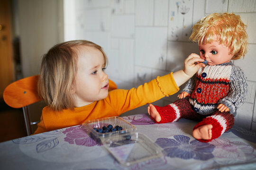
[[204, 118], [193, 128], [193, 136], [201, 142], [210, 142], [216, 139], [224, 132], [228, 131], [234, 125], [234, 116], [219, 110], [213, 115]]

